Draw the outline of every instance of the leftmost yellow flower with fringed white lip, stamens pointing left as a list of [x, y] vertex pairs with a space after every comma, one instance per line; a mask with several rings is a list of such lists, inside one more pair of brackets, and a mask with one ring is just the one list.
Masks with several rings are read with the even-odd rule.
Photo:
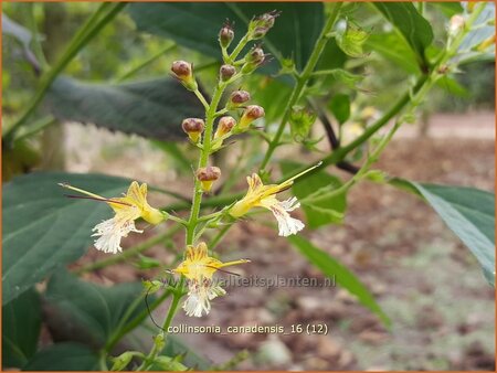
[[[142, 217], [150, 224], [159, 224], [167, 217], [166, 213], [148, 204], [147, 184], [145, 183], [139, 185], [136, 181], [131, 182], [128, 192], [124, 196], [115, 199], [106, 199], [66, 183], [60, 183], [59, 185], [86, 194], [92, 200], [106, 202], [114, 210], [114, 217], [103, 221], [92, 230], [95, 232], [92, 236], [98, 237], [95, 241], [95, 247], [104, 253], [117, 254], [121, 252], [121, 237], [126, 237], [129, 232], [142, 232], [135, 227], [137, 219]], [[70, 196], [78, 198], [75, 195]]]

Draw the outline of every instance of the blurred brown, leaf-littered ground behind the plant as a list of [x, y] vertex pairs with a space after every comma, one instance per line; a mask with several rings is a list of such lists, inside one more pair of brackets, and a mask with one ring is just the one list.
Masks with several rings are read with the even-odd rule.
[[[403, 130], [377, 168], [410, 180], [494, 190], [494, 114], [435, 116], [429, 137], [415, 137], [412, 128]], [[88, 135], [88, 143], [94, 143], [94, 138]], [[78, 137], [77, 141], [85, 140]], [[163, 170], [160, 153], [154, 152], [148, 158], [151, 160], [136, 170], [134, 160], [149, 149], [139, 141], [134, 149], [134, 153], [107, 153], [105, 163], [95, 161], [102, 154], [82, 157], [75, 151], [70, 168], [167, 182], [178, 190], [184, 186], [175, 183], [173, 171], [159, 173], [159, 167]], [[160, 166], [152, 166], [157, 163]], [[274, 228], [260, 224], [264, 219], [232, 228], [219, 246], [222, 258], [252, 259], [236, 269], [242, 276], [322, 278], [276, 236]], [[208, 317], [192, 320], [180, 312], [175, 324], [257, 323], [287, 329], [292, 324], [326, 324], [328, 334], [178, 337], [215, 364], [247, 350], [248, 358], [236, 369], [495, 370], [494, 290], [469, 251], [422, 201], [391, 186], [363, 182], [348, 195], [345, 224], [305, 230], [304, 235], [347, 265], [371, 289], [392, 320], [391, 330], [338, 285], [231, 287], [226, 297], [213, 301]], [[180, 245], [181, 236], [176, 239]], [[147, 253], [166, 264], [175, 257], [163, 247]], [[91, 251], [82, 262], [101, 257], [101, 253]], [[119, 265], [92, 278], [115, 283], [144, 276], [150, 274]], [[162, 312], [156, 311], [156, 318], [160, 319]], [[146, 332], [146, 338], [149, 334]]]

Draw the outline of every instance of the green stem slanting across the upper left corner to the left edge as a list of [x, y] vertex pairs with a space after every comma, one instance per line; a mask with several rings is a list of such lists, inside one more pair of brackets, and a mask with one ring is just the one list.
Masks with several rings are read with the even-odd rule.
[[[117, 13], [126, 7], [126, 3], [108, 3], [104, 2], [97, 9], [97, 11], [86, 21], [86, 23], [80, 29], [76, 35], [73, 38], [68, 47], [62, 55], [61, 60], [55, 66], [53, 66], [43, 77], [41, 78], [41, 85], [35, 96], [28, 105], [28, 108], [22, 114], [22, 116], [10, 126], [3, 134], [2, 138], [7, 143], [10, 143], [15, 132], [19, 128], [27, 121], [27, 119], [34, 113], [46, 90], [52, 85], [53, 81], [59, 76], [59, 74], [67, 66], [67, 64], [76, 56], [77, 52], [86, 45]], [[109, 8], [109, 10], [102, 15], [102, 13]]]

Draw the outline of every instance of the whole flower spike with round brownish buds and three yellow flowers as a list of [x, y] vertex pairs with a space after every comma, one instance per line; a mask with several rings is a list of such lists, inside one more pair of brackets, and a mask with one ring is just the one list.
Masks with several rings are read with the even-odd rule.
[[231, 136], [248, 131], [253, 124], [264, 117], [264, 108], [252, 105], [251, 94], [246, 90], [236, 89], [228, 96], [223, 108], [219, 108], [219, 103], [223, 92], [235, 81], [252, 74], [265, 61], [267, 55], [260, 45], [253, 45], [248, 52], [237, 60], [239, 53], [246, 43], [262, 39], [274, 25], [277, 12], [265, 13], [254, 18], [248, 25], [247, 33], [240, 40], [239, 45], [231, 54], [228, 52], [235, 34], [231, 24], [223, 25], [219, 33], [219, 42], [223, 54], [223, 64], [219, 71], [218, 86], [214, 90], [211, 103], [208, 103], [199, 90], [193, 65], [186, 61], [172, 63], [171, 72], [173, 76], [188, 90], [194, 93], [205, 108], [204, 118], [186, 118], [181, 122], [181, 128], [188, 136], [191, 145], [200, 150], [199, 166], [194, 172], [194, 193], [192, 199], [191, 215], [188, 221], [168, 214], [159, 209], [151, 207], [147, 202], [147, 184], [139, 185], [134, 181], [127, 193], [120, 198], [104, 198], [85, 190], [71, 186], [66, 183], [62, 186], [83, 194], [70, 195], [72, 198], [85, 198], [107, 203], [115, 215], [99, 224], [93, 231], [93, 236], [97, 237], [95, 247], [105, 253], [117, 254], [121, 252], [120, 241], [130, 232], [141, 233], [135, 226], [135, 221], [144, 221], [157, 225], [167, 220], [180, 222], [187, 228], [186, 252], [183, 260], [172, 270], [173, 274], [184, 277], [188, 281], [188, 297], [183, 303], [183, 309], [188, 316], [201, 317], [209, 313], [211, 300], [224, 296], [225, 290], [215, 284], [214, 273], [225, 271], [221, 268], [248, 263], [248, 259], [240, 259], [223, 263], [208, 253], [208, 246], [203, 242], [195, 244], [201, 237], [203, 230], [216, 227], [219, 224], [231, 224], [245, 216], [252, 209], [263, 207], [269, 210], [276, 219], [278, 233], [281, 236], [296, 234], [304, 228], [304, 223], [292, 217], [289, 212], [299, 207], [299, 202], [295, 196], [285, 201], [279, 201], [276, 194], [289, 189], [294, 180], [304, 171], [281, 184], [264, 184], [258, 174], [253, 173], [247, 177], [248, 189], [245, 196], [225, 206], [216, 213], [202, 216], [205, 224], [199, 227], [198, 222], [202, 195], [212, 192], [214, 183], [221, 178], [221, 169], [214, 164], [209, 164], [212, 153], [226, 147], [224, 141]]

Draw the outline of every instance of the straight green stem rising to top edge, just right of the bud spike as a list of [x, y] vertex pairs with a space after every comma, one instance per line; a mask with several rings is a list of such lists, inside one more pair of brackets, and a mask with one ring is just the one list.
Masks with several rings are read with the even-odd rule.
[[341, 6], [342, 6], [342, 3], [340, 3], [340, 2], [335, 2], [335, 3], [330, 4], [331, 13], [329, 14], [328, 20], [327, 20], [325, 26], [322, 28], [321, 33], [319, 34], [319, 38], [316, 41], [313, 53], [310, 54], [309, 60], [307, 61], [307, 64], [304, 67], [304, 71], [297, 78], [297, 84], [294, 86], [294, 89], [292, 90], [292, 95], [286, 105], [285, 114], [283, 115], [282, 121], [279, 122], [279, 127], [276, 130], [276, 134], [275, 134], [273, 140], [269, 142], [267, 151], [261, 163], [261, 167], [260, 167], [261, 170], [264, 170], [266, 168], [267, 163], [269, 162], [271, 157], [273, 156], [273, 152], [279, 146], [279, 139], [282, 138], [283, 132], [285, 130], [285, 126], [288, 121], [289, 115], [292, 113], [292, 108], [300, 98], [300, 95], [302, 95], [304, 88], [306, 87], [307, 82], [310, 78], [310, 76], [319, 61], [319, 57], [320, 57], [322, 51], [325, 50], [326, 43], [329, 40], [328, 33], [331, 31], [335, 22], [338, 19], [338, 14], [340, 13]]

